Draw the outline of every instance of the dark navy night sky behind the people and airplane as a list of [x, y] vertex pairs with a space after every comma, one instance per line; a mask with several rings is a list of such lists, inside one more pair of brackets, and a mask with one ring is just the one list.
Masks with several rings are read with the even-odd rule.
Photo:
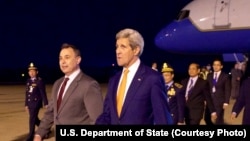
[[[156, 34], [174, 20], [191, 0], [43, 0], [0, 1], [0, 82], [23, 83], [33, 62], [47, 83], [63, 76], [59, 69], [60, 46], [67, 42], [80, 48], [82, 70], [107, 82], [115, 60], [115, 34], [134, 28], [144, 37], [141, 60], [151, 66], [170, 63], [179, 76], [188, 63], [206, 65], [213, 55], [180, 55], [160, 50]], [[181, 41], [181, 40], [180, 40]], [[25, 74], [22, 76], [21, 74]]]

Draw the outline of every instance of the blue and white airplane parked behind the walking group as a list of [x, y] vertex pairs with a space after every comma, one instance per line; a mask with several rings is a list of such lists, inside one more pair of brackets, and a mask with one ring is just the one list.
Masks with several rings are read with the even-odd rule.
[[172, 53], [240, 61], [250, 52], [250, 0], [193, 0], [156, 35], [155, 44]]

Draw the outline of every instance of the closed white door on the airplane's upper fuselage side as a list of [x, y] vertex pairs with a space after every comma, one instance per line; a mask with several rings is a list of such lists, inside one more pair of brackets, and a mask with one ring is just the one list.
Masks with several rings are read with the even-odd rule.
[[216, 0], [214, 28], [229, 28], [230, 0]]

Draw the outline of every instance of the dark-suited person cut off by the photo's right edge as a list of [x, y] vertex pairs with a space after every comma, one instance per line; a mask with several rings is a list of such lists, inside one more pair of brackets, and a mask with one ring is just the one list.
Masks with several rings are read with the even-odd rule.
[[247, 78], [243, 80], [240, 87], [239, 97], [233, 105], [231, 119], [234, 120], [238, 117], [239, 113], [244, 108], [242, 125], [250, 125], [250, 72], [249, 67], [247, 68]]

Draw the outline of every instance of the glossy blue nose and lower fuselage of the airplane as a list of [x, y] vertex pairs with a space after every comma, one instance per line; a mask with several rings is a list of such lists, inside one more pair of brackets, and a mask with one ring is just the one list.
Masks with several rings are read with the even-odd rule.
[[199, 31], [187, 18], [163, 28], [155, 44], [176, 53], [250, 52], [250, 29]]

